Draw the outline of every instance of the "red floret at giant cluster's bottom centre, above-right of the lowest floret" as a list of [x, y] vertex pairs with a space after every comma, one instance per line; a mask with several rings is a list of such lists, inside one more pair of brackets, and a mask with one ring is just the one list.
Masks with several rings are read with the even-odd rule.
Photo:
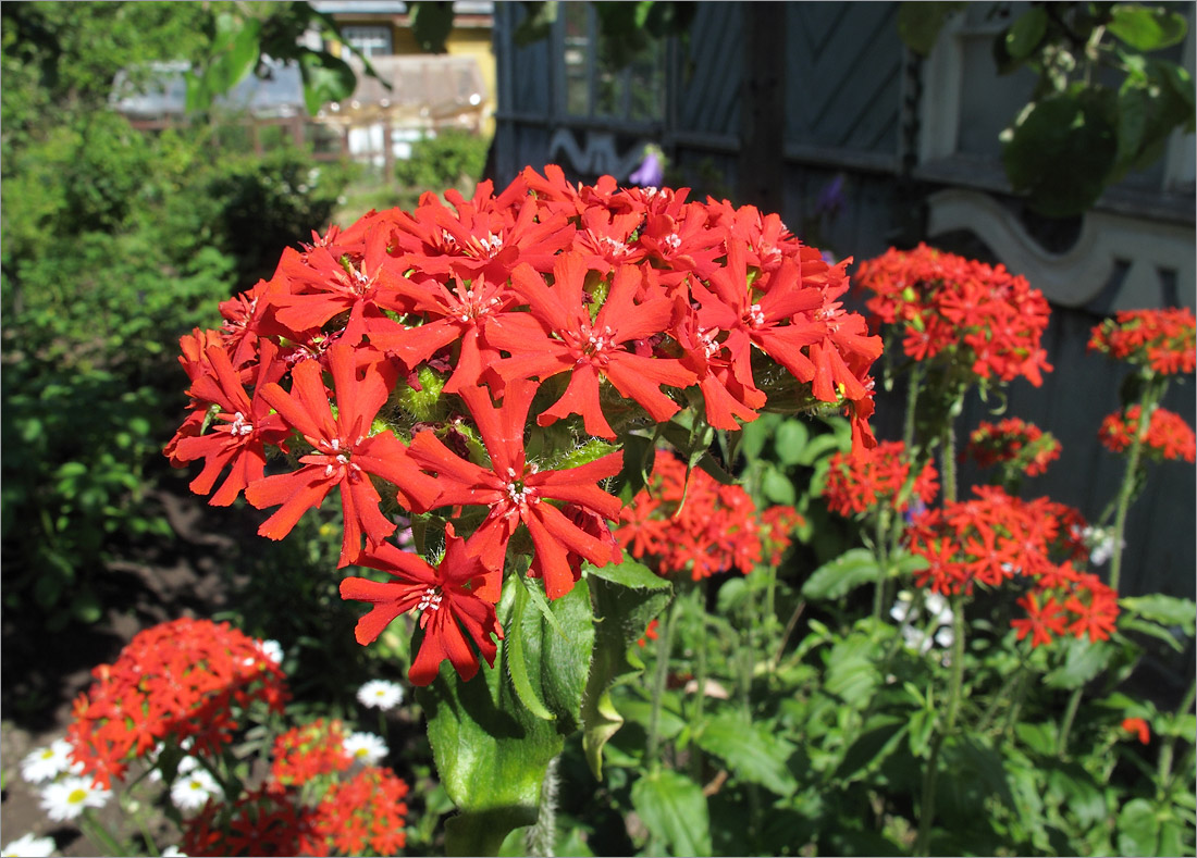
[[570, 566], [571, 553], [596, 566], [606, 565], [612, 558], [608, 543], [588, 534], [546, 501], [561, 500], [604, 518], [615, 518], [620, 510], [619, 499], [595, 483], [619, 473], [621, 457], [610, 454], [564, 470], [537, 470], [529, 465], [524, 460], [523, 433], [536, 389], [534, 382], [510, 382], [502, 408], [491, 403], [484, 389], [461, 391], [491, 456], [491, 470], [458, 457], [429, 431], [415, 436], [408, 454], [421, 468], [437, 474], [440, 486], [438, 504], [490, 507], [490, 513], [469, 542], [493, 573], [485, 592], [496, 602], [508, 542], [521, 523], [528, 528], [535, 547], [529, 572], [545, 579], [549, 598], [558, 598], [573, 589], [576, 579]]

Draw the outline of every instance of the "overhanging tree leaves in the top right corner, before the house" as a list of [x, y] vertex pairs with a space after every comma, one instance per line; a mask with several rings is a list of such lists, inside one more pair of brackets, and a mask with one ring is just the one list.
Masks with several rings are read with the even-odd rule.
[[[925, 56], [960, 7], [904, 2], [899, 35]], [[1005, 175], [1032, 208], [1080, 214], [1128, 172], [1159, 160], [1174, 129], [1193, 130], [1192, 78], [1146, 56], [1181, 42], [1187, 26], [1165, 5], [1044, 4], [995, 37], [999, 73], [1026, 67], [1039, 78], [1001, 135]]]

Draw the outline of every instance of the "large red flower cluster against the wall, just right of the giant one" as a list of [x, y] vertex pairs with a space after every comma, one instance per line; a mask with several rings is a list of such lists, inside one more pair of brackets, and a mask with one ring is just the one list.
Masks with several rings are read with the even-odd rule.
[[1026, 278], [919, 244], [891, 248], [861, 263], [857, 282], [876, 293], [868, 308], [904, 329], [903, 348], [915, 360], [970, 367], [978, 378], [1035, 387], [1051, 371], [1040, 347], [1050, 308]]

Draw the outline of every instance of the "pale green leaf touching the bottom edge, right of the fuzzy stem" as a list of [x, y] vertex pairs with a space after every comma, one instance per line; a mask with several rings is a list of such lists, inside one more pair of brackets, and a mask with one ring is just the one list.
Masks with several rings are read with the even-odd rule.
[[632, 807], [649, 829], [649, 854], [711, 854], [703, 787], [679, 772], [649, 772], [632, 784]]

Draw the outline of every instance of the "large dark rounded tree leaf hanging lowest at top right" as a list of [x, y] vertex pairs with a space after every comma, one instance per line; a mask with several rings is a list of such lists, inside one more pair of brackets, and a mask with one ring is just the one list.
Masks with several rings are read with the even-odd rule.
[[1002, 164], [1016, 191], [1049, 217], [1096, 202], [1118, 154], [1118, 99], [1083, 84], [1031, 102], [1002, 132]]

